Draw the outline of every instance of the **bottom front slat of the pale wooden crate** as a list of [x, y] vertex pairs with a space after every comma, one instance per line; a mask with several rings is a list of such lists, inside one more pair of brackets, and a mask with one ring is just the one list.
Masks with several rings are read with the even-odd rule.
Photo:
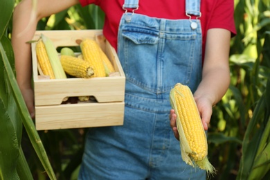
[[38, 130], [115, 126], [123, 125], [124, 102], [39, 106], [35, 111]]

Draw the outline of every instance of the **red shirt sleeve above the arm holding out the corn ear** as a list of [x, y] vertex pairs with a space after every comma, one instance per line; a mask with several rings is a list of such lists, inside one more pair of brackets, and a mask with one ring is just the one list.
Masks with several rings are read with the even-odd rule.
[[208, 24], [208, 29], [210, 28], [224, 28], [230, 30], [233, 36], [236, 34], [233, 0], [217, 0]]

